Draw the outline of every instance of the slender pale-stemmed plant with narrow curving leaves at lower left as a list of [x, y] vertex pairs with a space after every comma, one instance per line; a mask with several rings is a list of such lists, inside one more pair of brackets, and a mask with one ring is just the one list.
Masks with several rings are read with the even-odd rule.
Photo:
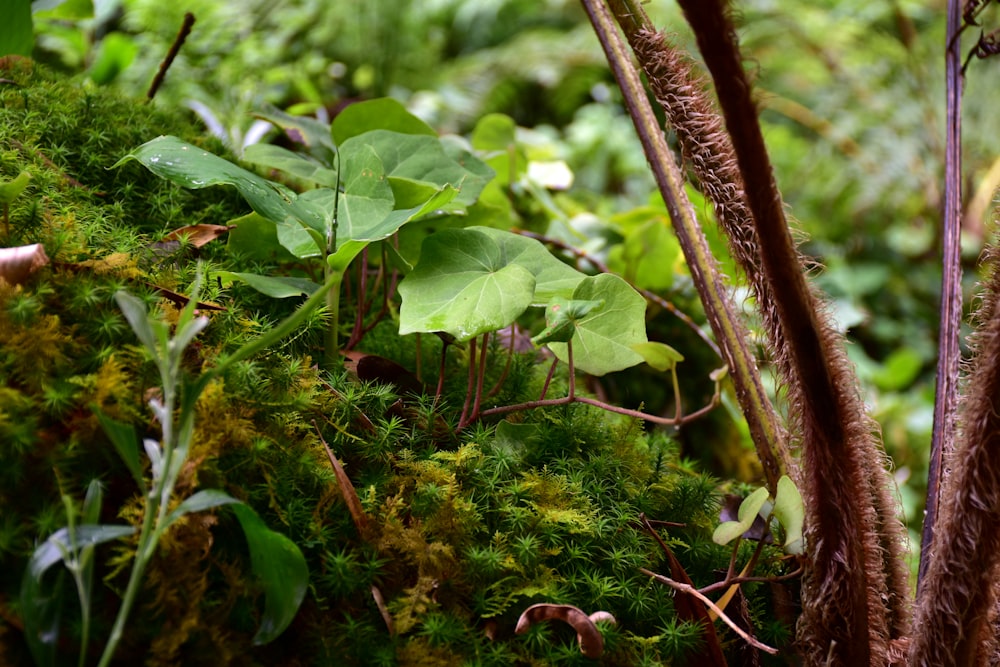
[[[293, 331], [315, 303], [323, 297], [319, 289], [312, 300], [272, 331], [237, 350], [218, 365], [204, 372], [193, 383], [185, 382], [182, 359], [185, 350], [198, 333], [208, 325], [205, 317], [196, 317], [198, 284], [192, 298], [181, 311], [176, 331], [170, 335], [169, 325], [149, 315], [145, 304], [125, 292], [116, 295], [136, 336], [153, 360], [160, 375], [161, 396], [150, 401], [153, 414], [160, 424], [159, 442], [144, 439], [143, 447], [150, 462], [151, 479], [147, 483], [139, 460], [138, 443], [132, 427], [120, 424], [98, 413], [104, 429], [131, 471], [142, 491], [144, 506], [142, 527], [138, 531], [134, 562], [121, 607], [115, 619], [100, 664], [107, 665], [125, 630], [132, 606], [136, 602], [143, 575], [156, 553], [157, 545], [170, 527], [185, 515], [221, 505], [233, 505], [233, 511], [243, 527], [250, 547], [255, 574], [261, 578], [266, 591], [266, 609], [256, 643], [272, 641], [287, 627], [305, 595], [308, 569], [302, 554], [293, 542], [269, 530], [256, 513], [240, 501], [221, 491], [202, 490], [186, 498], [175, 497], [188, 453], [192, 446], [195, 428], [196, 403], [211, 382], [226, 369], [257, 350], [268, 347]], [[176, 416], [175, 416], [176, 415]], [[50, 664], [58, 639], [58, 611], [53, 599], [42, 594], [42, 579], [46, 572], [62, 562], [72, 573], [83, 613], [80, 664], [87, 655], [89, 640], [89, 614], [91, 605], [91, 566], [96, 545], [132, 535], [132, 526], [100, 525], [99, 487], [91, 485], [84, 502], [83, 523], [76, 524], [76, 511], [68, 498], [69, 525], [51, 535], [35, 550], [23, 579], [21, 602], [25, 610], [26, 636], [36, 661]]]

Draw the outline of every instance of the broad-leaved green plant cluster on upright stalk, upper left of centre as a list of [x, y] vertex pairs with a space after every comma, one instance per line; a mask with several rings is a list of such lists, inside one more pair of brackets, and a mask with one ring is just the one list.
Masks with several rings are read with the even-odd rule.
[[[339, 359], [340, 283], [348, 265], [368, 244], [391, 236], [410, 220], [453, 200], [470, 205], [490, 176], [485, 165], [461, 148], [449, 153], [426, 124], [393, 100], [360, 107], [339, 116], [329, 128], [308, 118], [268, 114], [294, 131], [310, 155], [257, 146], [244, 157], [306, 182], [309, 189], [301, 195], [173, 137], [154, 139], [119, 162], [138, 160], [157, 175], [191, 188], [235, 186], [256, 215], [236, 221], [232, 243], [255, 255], [290, 253], [309, 264], [311, 277], [319, 274], [324, 283], [334, 281], [326, 301], [331, 316], [328, 366]], [[379, 118], [378, 125], [373, 127], [370, 117]], [[379, 126], [395, 129], [376, 129]], [[275, 298], [319, 289], [303, 278], [225, 276]]]

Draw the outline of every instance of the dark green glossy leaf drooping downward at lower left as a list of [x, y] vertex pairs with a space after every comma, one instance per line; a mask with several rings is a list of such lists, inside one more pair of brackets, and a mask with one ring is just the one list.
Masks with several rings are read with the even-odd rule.
[[234, 505], [250, 548], [254, 575], [264, 589], [264, 615], [253, 643], [266, 644], [284, 632], [295, 618], [309, 585], [309, 568], [290, 539], [269, 529], [246, 505]]

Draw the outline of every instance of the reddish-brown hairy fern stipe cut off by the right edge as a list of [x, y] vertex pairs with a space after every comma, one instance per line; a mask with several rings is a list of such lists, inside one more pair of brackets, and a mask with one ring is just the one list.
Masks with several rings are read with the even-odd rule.
[[914, 619], [914, 666], [989, 664], [979, 654], [994, 648], [981, 642], [1000, 574], [1000, 256], [990, 252], [975, 361]]

